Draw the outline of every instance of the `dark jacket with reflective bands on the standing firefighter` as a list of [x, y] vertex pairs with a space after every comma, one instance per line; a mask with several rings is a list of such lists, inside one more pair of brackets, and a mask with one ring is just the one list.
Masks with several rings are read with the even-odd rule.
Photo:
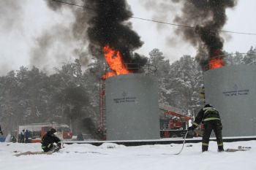
[[206, 106], [203, 107], [203, 109], [200, 109], [200, 111], [197, 114], [197, 117], [195, 117], [195, 121], [192, 125], [192, 128], [195, 129], [200, 125], [201, 122], [207, 122], [210, 120], [220, 121], [219, 112], [210, 104], [206, 104]]

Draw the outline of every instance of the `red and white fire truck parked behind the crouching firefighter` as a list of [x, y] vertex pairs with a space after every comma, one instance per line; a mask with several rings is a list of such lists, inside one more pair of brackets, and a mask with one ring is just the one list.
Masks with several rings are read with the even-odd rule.
[[[56, 136], [61, 140], [72, 139], [72, 131], [69, 125], [58, 124], [58, 123], [31, 123], [29, 125], [19, 125], [18, 132], [29, 131], [30, 142], [41, 142], [42, 136], [44, 136], [50, 128], [55, 128], [57, 133]], [[18, 138], [19, 139], [19, 138]]]

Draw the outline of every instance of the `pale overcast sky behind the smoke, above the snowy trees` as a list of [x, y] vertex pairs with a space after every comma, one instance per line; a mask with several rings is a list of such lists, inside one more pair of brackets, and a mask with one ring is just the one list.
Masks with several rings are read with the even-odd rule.
[[[171, 1], [171, 0], [169, 0]], [[173, 23], [173, 18], [180, 12], [179, 4], [166, 3], [162, 0], [127, 0], [135, 17], [161, 20]], [[170, 9], [170, 10], [169, 10]], [[227, 9], [227, 23], [224, 30], [256, 33], [255, 0], [240, 0], [234, 9]], [[20, 66], [36, 65], [40, 69], [49, 70], [53, 66], [61, 66], [78, 58], [72, 49], [83, 42], [68, 34], [69, 26], [74, 21], [70, 9], [53, 12], [43, 0], [0, 0], [0, 75]], [[143, 47], [138, 50], [143, 55], [154, 48], [159, 48], [170, 62], [178, 60], [182, 55], [195, 55], [196, 49], [175, 34], [176, 26], [152, 23], [131, 18], [132, 28], [141, 36]], [[62, 26], [61, 34], [55, 28]], [[48, 32], [48, 34], [45, 34]], [[45, 40], [47, 36], [51, 36]], [[47, 36], [45, 36], [47, 35]], [[56, 36], [57, 35], [57, 36]], [[256, 46], [256, 36], [244, 34], [222, 34], [225, 38], [223, 50], [229, 53], [246, 53], [249, 47]], [[45, 38], [45, 39], [44, 39]], [[39, 41], [40, 40], [40, 41]], [[39, 42], [47, 41], [41, 51], [37, 49]], [[65, 42], [62, 44], [61, 42]], [[86, 47], [86, 45], [84, 45]], [[48, 50], [50, 48], [50, 50]], [[43, 53], [45, 52], [45, 53]], [[37, 55], [37, 58], [31, 56]], [[52, 57], [55, 56], [55, 57]]]

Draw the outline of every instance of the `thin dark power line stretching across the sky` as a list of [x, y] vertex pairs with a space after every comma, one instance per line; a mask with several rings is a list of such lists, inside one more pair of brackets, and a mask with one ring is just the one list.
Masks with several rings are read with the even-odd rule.
[[[69, 4], [69, 5], [72, 5], [72, 6], [75, 6], [75, 7], [82, 7], [82, 8], [86, 8], [86, 9], [90, 9], [90, 10], [95, 10], [91, 7], [87, 7], [87, 6], [83, 6], [83, 5], [78, 5], [78, 4], [72, 4], [72, 3], [69, 3], [69, 2], [66, 2], [66, 1], [58, 1], [58, 0], [52, 0], [52, 1], [56, 1], [56, 2], [59, 2], [59, 3], [62, 3], [62, 4]], [[195, 28], [195, 26], [185, 26], [185, 25], [181, 25], [181, 24], [176, 24], [176, 23], [167, 23], [167, 22], [164, 22], [164, 21], [159, 21], [159, 20], [151, 20], [151, 19], [146, 19], [146, 18], [138, 18], [138, 17], [135, 17], [135, 16], [129, 16], [130, 18], [135, 18], [135, 19], [138, 19], [138, 20], [146, 20], [146, 21], [149, 21], [149, 22], [154, 22], [154, 23], [162, 23], [162, 24], [167, 24], [167, 25], [170, 25], [170, 26], [179, 26], [179, 27], [184, 27], [184, 28]], [[236, 31], [226, 31], [226, 30], [211, 30], [211, 31], [217, 31], [217, 32], [226, 32], [226, 33], [231, 33], [231, 34], [246, 34], [246, 35], [253, 35], [253, 36], [256, 36], [255, 33], [246, 33], [246, 32], [236, 32]]]

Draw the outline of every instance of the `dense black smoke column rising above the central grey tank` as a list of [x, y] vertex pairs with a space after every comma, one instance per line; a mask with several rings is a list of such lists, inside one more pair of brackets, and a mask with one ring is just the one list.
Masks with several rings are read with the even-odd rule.
[[[143, 45], [140, 36], [132, 30], [127, 20], [132, 12], [125, 0], [87, 0], [86, 6], [94, 16], [89, 20], [88, 36], [91, 51], [99, 48], [102, 51], [105, 45], [119, 50], [124, 63], [135, 63], [143, 66], [146, 58], [133, 53]], [[132, 69], [136, 72], [136, 70]]]

